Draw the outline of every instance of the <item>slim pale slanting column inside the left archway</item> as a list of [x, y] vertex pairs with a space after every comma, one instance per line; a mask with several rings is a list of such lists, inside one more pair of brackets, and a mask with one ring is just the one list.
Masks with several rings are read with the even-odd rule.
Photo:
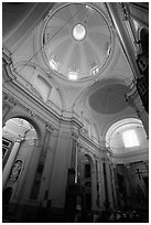
[[11, 153], [9, 156], [9, 159], [8, 159], [7, 163], [6, 163], [6, 167], [4, 167], [3, 172], [2, 172], [2, 190], [3, 190], [3, 188], [4, 188], [6, 183], [7, 183], [9, 174], [11, 172], [11, 168], [13, 165], [14, 159], [15, 159], [15, 157], [18, 154], [18, 150], [20, 148], [20, 144], [21, 144], [22, 140], [23, 140], [23, 137], [20, 136], [19, 138], [17, 138], [17, 140], [15, 140], [15, 142], [14, 142], [14, 144], [12, 147]]

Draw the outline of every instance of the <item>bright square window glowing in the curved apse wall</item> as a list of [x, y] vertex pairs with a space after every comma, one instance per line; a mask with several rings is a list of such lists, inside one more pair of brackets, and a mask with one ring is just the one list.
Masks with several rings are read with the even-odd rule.
[[139, 139], [134, 130], [127, 130], [122, 132], [122, 139], [126, 148], [140, 146]]

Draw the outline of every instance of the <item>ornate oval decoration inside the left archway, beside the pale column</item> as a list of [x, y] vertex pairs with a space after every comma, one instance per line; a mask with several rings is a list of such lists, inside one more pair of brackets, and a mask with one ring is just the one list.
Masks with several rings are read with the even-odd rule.
[[21, 170], [22, 170], [23, 162], [21, 160], [17, 160], [11, 169], [9, 182], [12, 184], [18, 181]]

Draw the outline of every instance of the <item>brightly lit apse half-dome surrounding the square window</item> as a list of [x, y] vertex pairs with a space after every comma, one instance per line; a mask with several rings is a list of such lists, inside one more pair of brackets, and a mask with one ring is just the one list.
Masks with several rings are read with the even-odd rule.
[[114, 154], [130, 154], [148, 149], [148, 139], [140, 119], [125, 118], [110, 126], [106, 132], [106, 147]]

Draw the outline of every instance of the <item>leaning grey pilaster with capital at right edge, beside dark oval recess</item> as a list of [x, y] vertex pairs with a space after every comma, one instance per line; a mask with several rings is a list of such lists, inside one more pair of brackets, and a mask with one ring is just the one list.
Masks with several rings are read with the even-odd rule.
[[142, 105], [141, 98], [138, 94], [136, 86], [132, 87], [131, 92], [126, 94], [126, 100], [137, 111], [138, 117], [142, 121], [142, 125], [144, 127], [147, 137], [149, 138], [149, 115]]

